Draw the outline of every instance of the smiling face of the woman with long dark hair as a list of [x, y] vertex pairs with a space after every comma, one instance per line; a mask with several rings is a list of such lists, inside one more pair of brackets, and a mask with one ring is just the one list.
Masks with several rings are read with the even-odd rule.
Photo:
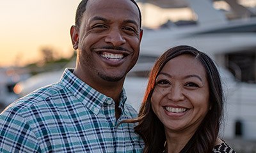
[[191, 55], [168, 61], [156, 78], [151, 103], [166, 132], [194, 133], [209, 110], [204, 66]]

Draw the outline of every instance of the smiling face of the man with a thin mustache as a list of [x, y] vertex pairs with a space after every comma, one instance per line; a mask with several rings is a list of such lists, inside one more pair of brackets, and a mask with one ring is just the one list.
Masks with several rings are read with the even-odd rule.
[[77, 31], [77, 68], [86, 82], [124, 80], [140, 50], [136, 5], [127, 0], [88, 1]]

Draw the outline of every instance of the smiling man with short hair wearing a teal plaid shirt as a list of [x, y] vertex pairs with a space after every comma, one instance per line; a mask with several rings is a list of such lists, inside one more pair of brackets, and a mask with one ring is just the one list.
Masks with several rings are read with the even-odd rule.
[[125, 103], [125, 75], [138, 59], [141, 14], [133, 0], [83, 0], [70, 29], [75, 69], [0, 115], [0, 152], [142, 152]]

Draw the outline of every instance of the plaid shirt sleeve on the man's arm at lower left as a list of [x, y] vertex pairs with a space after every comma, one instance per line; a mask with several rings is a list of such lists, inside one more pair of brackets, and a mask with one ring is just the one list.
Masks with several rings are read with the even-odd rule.
[[0, 115], [0, 152], [41, 152], [35, 133], [15, 110]]

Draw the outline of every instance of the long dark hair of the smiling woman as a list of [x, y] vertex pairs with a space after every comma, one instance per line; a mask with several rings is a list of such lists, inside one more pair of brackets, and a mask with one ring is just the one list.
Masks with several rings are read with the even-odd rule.
[[153, 112], [150, 99], [154, 91], [156, 77], [166, 62], [184, 54], [195, 57], [205, 68], [209, 83], [209, 106], [211, 106], [211, 109], [182, 151], [212, 152], [216, 139], [218, 138], [223, 115], [223, 91], [218, 69], [208, 55], [196, 50], [196, 48], [185, 45], [177, 46], [170, 48], [157, 59], [148, 79], [149, 81], [138, 119], [128, 120], [128, 122], [138, 122], [138, 126], [134, 130], [145, 142], [144, 152], [155, 153], [163, 152], [164, 150], [164, 142], [166, 141], [164, 126]]

